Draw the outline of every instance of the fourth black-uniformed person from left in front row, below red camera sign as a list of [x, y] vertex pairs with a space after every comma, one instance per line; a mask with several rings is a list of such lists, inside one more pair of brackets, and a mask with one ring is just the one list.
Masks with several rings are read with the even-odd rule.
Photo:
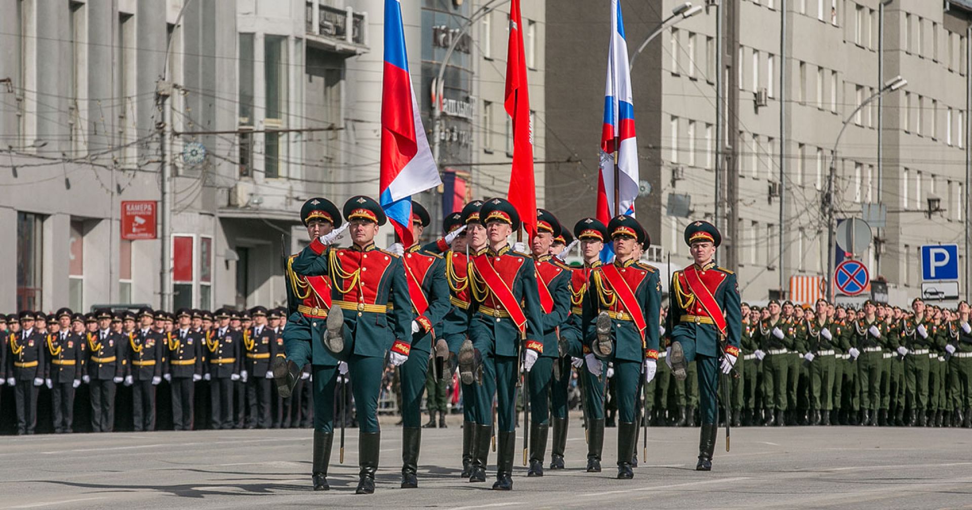
[[[139, 319], [152, 316], [141, 310]], [[165, 338], [153, 327], [140, 327], [128, 334], [128, 366], [133, 385], [132, 416], [136, 432], [156, 429], [156, 385], [162, 380], [162, 350]]]

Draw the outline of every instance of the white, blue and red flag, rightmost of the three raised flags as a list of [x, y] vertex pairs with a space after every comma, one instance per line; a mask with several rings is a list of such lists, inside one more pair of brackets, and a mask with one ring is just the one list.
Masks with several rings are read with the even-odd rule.
[[[605, 87], [605, 120], [601, 130], [601, 171], [598, 175], [597, 218], [608, 224], [619, 215], [635, 216], [638, 197], [638, 143], [635, 139], [635, 107], [631, 93], [628, 44], [620, 0], [610, 3], [611, 36], [608, 47], [608, 83]], [[616, 159], [615, 159], [616, 153]], [[615, 165], [617, 183], [615, 183]], [[615, 209], [615, 188], [617, 204]], [[613, 256], [606, 243], [603, 258]], [[609, 252], [609, 253], [608, 253]]]

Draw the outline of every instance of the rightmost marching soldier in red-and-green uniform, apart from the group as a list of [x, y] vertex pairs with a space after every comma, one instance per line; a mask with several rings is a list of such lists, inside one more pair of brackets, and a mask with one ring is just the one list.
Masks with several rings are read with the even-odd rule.
[[736, 275], [715, 265], [715, 249], [721, 241], [722, 235], [712, 223], [689, 223], [685, 228], [685, 244], [694, 263], [672, 276], [669, 289], [668, 330], [672, 340], [667, 358], [676, 377], [684, 373], [685, 364], [692, 359], [699, 374], [702, 431], [699, 461], [695, 466], [699, 471], [712, 469], [718, 376], [719, 372], [732, 371], [739, 357], [743, 329]]

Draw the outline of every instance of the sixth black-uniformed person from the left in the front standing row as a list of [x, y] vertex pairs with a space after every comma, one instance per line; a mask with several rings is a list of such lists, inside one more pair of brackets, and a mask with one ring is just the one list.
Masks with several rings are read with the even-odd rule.
[[[216, 319], [228, 319], [226, 309], [216, 312]], [[233, 382], [239, 380], [240, 354], [243, 335], [229, 326], [216, 327], [206, 338], [209, 402], [212, 410], [210, 426], [214, 429], [233, 427]]]

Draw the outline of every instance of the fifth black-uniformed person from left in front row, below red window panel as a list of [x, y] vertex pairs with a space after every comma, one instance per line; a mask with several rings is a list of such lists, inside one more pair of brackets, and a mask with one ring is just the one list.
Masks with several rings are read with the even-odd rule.
[[[183, 309], [177, 317], [191, 315]], [[166, 333], [165, 373], [172, 392], [172, 427], [191, 430], [195, 382], [202, 379], [202, 334], [191, 327], [178, 327]]]

